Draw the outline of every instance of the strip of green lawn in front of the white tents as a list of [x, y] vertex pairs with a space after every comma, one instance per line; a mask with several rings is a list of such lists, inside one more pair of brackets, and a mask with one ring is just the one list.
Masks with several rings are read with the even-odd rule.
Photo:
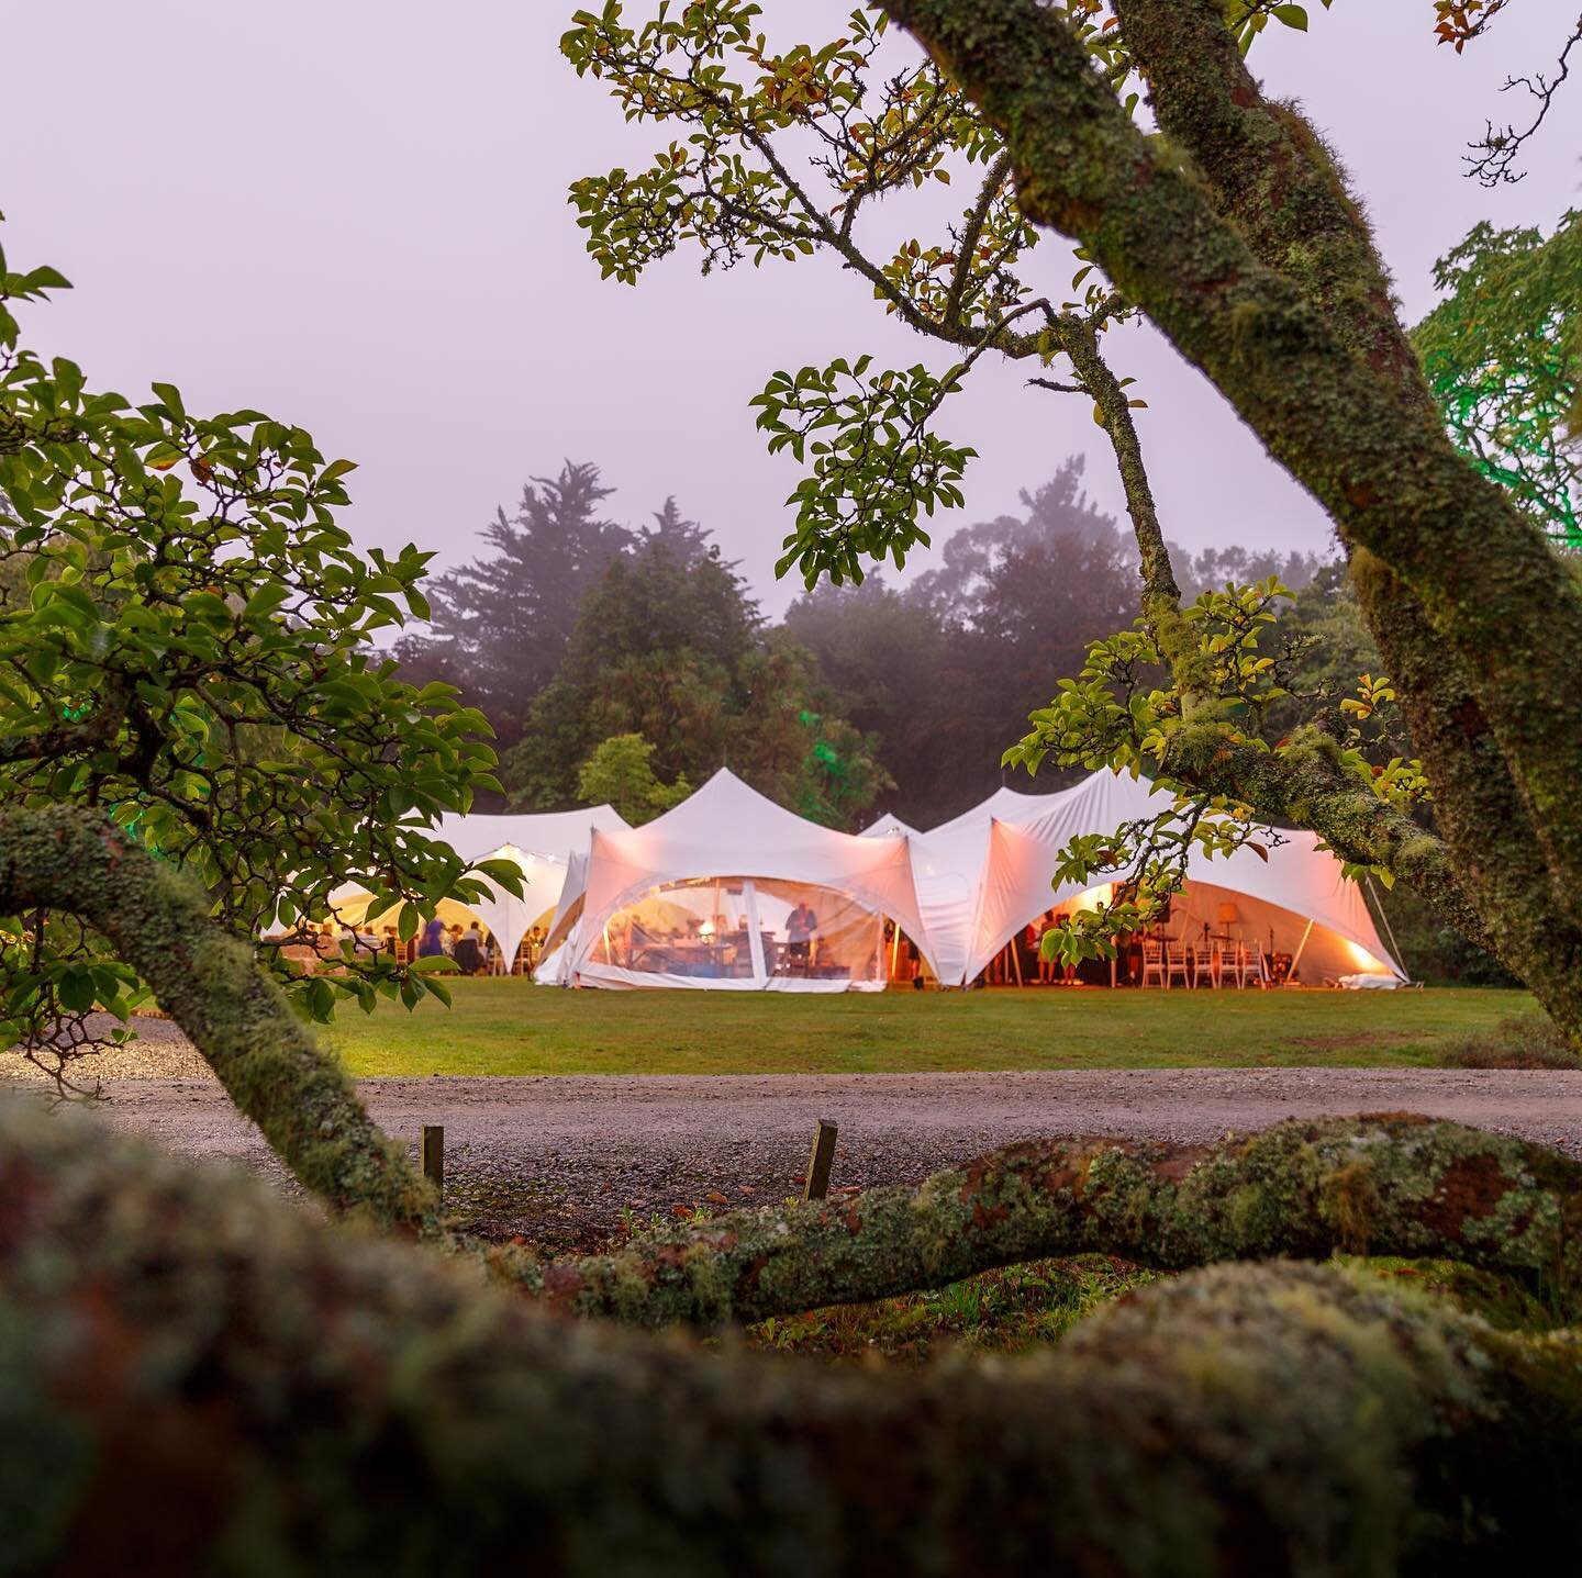
[[459, 980], [454, 1009], [342, 1007], [329, 1042], [377, 1074], [906, 1074], [1406, 1066], [1536, 1012], [1519, 991], [563, 991]]

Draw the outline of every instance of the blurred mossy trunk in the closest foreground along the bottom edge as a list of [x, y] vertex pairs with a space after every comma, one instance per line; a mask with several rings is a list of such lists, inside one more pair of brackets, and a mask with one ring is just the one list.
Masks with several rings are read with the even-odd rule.
[[832, 1371], [563, 1322], [253, 1180], [0, 1102], [16, 1570], [1549, 1570], [1582, 1365], [1329, 1268], [1028, 1361]]

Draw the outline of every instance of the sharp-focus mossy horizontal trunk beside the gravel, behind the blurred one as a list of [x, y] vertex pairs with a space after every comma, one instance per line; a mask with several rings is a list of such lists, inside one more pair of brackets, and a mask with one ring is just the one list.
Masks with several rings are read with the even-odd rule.
[[919, 1189], [739, 1211], [584, 1260], [490, 1260], [558, 1309], [658, 1327], [763, 1320], [1087, 1251], [1164, 1270], [1444, 1257], [1582, 1316], [1582, 1164], [1403, 1115], [1291, 1119], [1194, 1148], [1041, 1140]]

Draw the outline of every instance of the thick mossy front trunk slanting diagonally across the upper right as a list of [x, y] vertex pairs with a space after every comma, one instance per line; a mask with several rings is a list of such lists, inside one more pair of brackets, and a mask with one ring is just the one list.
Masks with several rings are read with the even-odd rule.
[[[1022, 210], [1079, 237], [1319, 498], [1348, 546], [1411, 588], [1476, 688], [1528, 810], [1547, 876], [1535, 901], [1576, 927], [1582, 696], [1569, 667], [1582, 596], [1541, 533], [1476, 478], [1430, 410], [1402, 400], [1398, 368], [1357, 354], [1348, 327], [1217, 212], [1198, 172], [1149, 144], [1057, 14], [1035, 0], [884, 9], [1006, 138]], [[1223, 27], [1207, 0], [1171, 14]], [[1190, 54], [1180, 59], [1191, 70]], [[1213, 73], [1210, 59], [1194, 90], [1215, 96]], [[1495, 848], [1500, 833], [1489, 830]]]

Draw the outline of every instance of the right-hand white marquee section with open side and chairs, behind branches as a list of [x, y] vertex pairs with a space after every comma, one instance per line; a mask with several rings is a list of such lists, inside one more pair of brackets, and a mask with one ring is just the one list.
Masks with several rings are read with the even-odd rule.
[[[1107, 885], [1054, 889], [1055, 857], [1079, 833], [1109, 833], [1155, 816], [1171, 797], [1141, 780], [1096, 772], [1052, 795], [1000, 789], [981, 806], [929, 833], [910, 833], [918, 897], [929, 927], [924, 952], [943, 985], [963, 985], [1024, 927], [1050, 909], [1107, 898]], [[888, 841], [900, 824], [875, 822], [864, 836]], [[1262, 860], [1253, 849], [1229, 857], [1193, 851], [1186, 889], [1172, 908], [1172, 928], [1188, 941], [1234, 927], [1248, 942], [1272, 938], [1300, 950], [1305, 979], [1346, 974], [1403, 977], [1380, 941], [1356, 882], [1307, 832], [1285, 840]], [[924, 939], [918, 939], [922, 942]]]

